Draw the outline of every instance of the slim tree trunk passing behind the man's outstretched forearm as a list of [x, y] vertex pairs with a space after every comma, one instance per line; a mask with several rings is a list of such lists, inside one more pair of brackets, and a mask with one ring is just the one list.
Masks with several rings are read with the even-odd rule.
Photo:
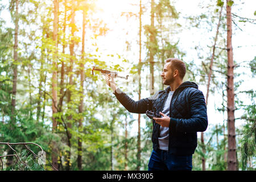
[[[139, 75], [139, 100], [141, 100], [141, 33], [142, 33], [142, 5], [141, 0], [139, 1], [139, 69], [138, 69], [138, 75]], [[141, 169], [141, 114], [138, 114], [138, 153], [137, 153], [138, 163], [137, 163], [137, 171]]]

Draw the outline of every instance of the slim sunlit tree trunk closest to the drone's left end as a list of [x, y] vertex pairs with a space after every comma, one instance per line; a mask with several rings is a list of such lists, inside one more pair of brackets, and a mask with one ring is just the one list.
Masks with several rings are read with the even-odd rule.
[[[82, 115], [83, 107], [84, 107], [84, 47], [85, 47], [85, 10], [82, 11], [82, 57], [81, 57], [81, 71], [80, 71], [80, 105], [79, 105], [79, 113]], [[82, 131], [82, 120], [83, 118], [79, 119], [79, 133]], [[77, 167], [81, 170], [82, 169], [82, 141], [81, 138], [78, 138], [78, 156], [77, 156]]]

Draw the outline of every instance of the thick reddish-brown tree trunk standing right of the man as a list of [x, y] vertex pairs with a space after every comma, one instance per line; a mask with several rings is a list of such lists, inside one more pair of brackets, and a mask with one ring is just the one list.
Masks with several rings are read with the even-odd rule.
[[231, 6], [226, 4], [226, 20], [227, 20], [227, 51], [228, 51], [228, 84], [227, 84], [227, 111], [228, 111], [228, 170], [236, 171], [236, 130], [234, 117], [234, 61], [232, 48], [232, 14]]

